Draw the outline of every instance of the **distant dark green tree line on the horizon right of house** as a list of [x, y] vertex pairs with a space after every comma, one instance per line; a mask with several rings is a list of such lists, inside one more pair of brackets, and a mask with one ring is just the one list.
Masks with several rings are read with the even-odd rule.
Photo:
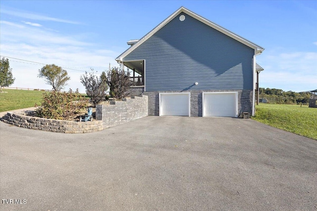
[[[283, 91], [277, 88], [260, 88], [260, 99], [270, 99], [268, 103], [303, 104], [308, 103], [311, 92]], [[271, 101], [271, 102], [270, 102]]]

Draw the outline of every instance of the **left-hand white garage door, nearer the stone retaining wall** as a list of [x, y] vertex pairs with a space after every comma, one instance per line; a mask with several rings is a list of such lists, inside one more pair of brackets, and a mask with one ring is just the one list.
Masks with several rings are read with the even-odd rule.
[[159, 93], [159, 115], [190, 116], [190, 93]]

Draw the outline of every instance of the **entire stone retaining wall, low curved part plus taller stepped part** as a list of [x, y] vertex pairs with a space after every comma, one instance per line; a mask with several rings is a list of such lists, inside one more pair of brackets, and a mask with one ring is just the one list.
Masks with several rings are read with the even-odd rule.
[[103, 130], [148, 116], [148, 96], [136, 96], [124, 101], [111, 101], [110, 105], [96, 106], [96, 121], [76, 122], [29, 117], [8, 112], [1, 121], [4, 123], [51, 132], [88, 133]]

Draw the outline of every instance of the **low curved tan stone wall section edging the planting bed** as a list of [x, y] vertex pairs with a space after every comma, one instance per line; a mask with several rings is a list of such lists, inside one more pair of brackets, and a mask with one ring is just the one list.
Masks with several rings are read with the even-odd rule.
[[17, 127], [62, 133], [88, 133], [103, 130], [102, 121], [75, 122], [28, 117], [17, 113], [5, 114], [1, 121]]

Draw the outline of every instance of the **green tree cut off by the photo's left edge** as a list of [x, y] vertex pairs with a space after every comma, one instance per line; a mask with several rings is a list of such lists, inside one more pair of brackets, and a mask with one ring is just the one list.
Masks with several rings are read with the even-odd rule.
[[12, 76], [12, 69], [10, 68], [9, 59], [2, 57], [0, 60], [0, 91], [2, 87], [7, 87], [14, 83], [15, 78]]

